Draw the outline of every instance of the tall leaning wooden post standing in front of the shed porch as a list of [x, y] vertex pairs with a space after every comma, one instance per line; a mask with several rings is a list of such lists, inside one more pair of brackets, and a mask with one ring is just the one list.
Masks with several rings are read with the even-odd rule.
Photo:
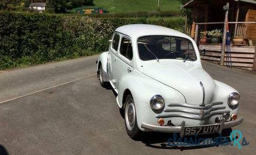
[[226, 8], [225, 21], [224, 21], [224, 27], [223, 27], [223, 37], [222, 37], [221, 55], [220, 55], [220, 66], [224, 65], [224, 57], [225, 57], [225, 49], [226, 49], [229, 3], [227, 3], [226, 6], [227, 6], [227, 8]]

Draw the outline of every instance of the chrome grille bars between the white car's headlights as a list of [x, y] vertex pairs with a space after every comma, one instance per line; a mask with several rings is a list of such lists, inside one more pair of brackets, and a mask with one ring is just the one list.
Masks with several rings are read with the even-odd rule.
[[[159, 114], [156, 117], [157, 118], [170, 118], [170, 117], [183, 117], [183, 118], [189, 118], [189, 119], [196, 119], [196, 120], [203, 120], [207, 119], [214, 115], [222, 115], [224, 112], [229, 111], [217, 111], [221, 109], [226, 109], [226, 106], [223, 105], [223, 102], [213, 102], [211, 104], [208, 104], [206, 106], [197, 106], [197, 105], [189, 105], [189, 104], [169, 104], [168, 107], [185, 107], [189, 109], [169, 109], [166, 108], [165, 111], [170, 112], [167, 114]], [[179, 112], [179, 113], [171, 113], [171, 112]]]

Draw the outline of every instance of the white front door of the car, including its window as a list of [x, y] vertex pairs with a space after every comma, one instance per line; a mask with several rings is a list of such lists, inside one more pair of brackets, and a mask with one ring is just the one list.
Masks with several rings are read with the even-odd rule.
[[121, 78], [127, 74], [131, 74], [134, 69], [132, 61], [133, 55], [131, 39], [128, 36], [121, 36], [117, 60], [117, 90], [119, 89], [119, 81]]

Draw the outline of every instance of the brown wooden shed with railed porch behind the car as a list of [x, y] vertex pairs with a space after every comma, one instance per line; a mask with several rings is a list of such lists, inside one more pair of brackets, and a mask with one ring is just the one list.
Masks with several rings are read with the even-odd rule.
[[[194, 38], [199, 48], [206, 49], [206, 55], [202, 59], [220, 65], [231, 63], [242, 69], [256, 70], [256, 1], [191, 0], [182, 7], [192, 11], [187, 14], [187, 18], [192, 19], [192, 24], [186, 22], [185, 33]], [[222, 30], [220, 42], [212, 44], [212, 36], [207, 36], [206, 43], [201, 42], [202, 34], [208, 32], [210, 35], [214, 29]], [[227, 36], [231, 40], [231, 60], [228, 59], [229, 50], [226, 48]], [[241, 43], [238, 44], [237, 40]]]

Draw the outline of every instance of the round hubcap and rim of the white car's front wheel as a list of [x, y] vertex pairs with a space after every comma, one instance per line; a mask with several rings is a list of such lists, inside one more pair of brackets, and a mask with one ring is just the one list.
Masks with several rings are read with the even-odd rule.
[[125, 108], [125, 121], [128, 130], [132, 130], [135, 125], [135, 106], [134, 106], [134, 101], [132, 99], [129, 99], [126, 108]]

